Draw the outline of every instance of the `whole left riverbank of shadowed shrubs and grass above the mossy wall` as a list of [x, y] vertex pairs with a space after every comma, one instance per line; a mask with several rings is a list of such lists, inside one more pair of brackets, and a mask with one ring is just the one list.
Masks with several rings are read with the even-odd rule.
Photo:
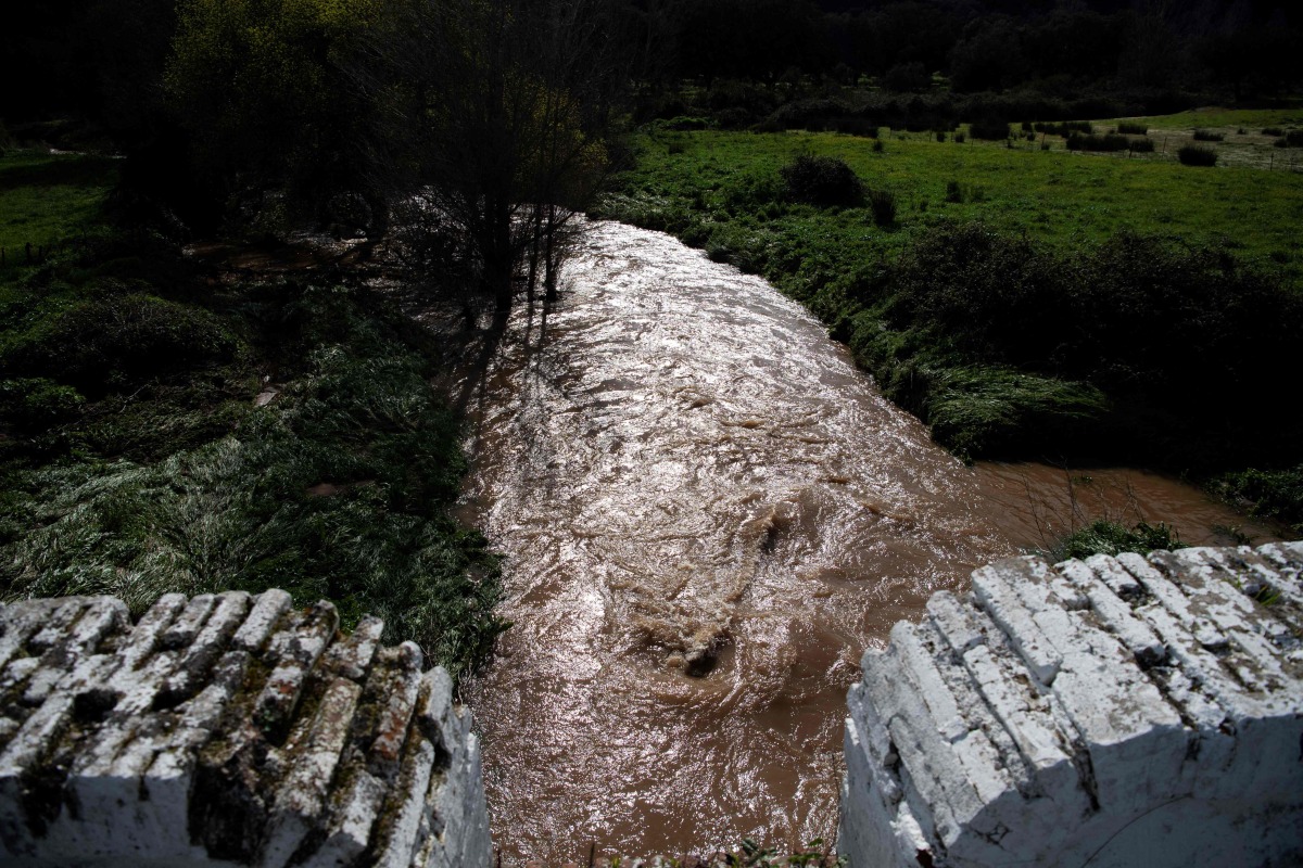
[[0, 271], [0, 593], [283, 587], [470, 670], [496, 558], [448, 514], [433, 338], [347, 276], [227, 280], [112, 229], [112, 164], [70, 160], [0, 157], [0, 213], [56, 250]]

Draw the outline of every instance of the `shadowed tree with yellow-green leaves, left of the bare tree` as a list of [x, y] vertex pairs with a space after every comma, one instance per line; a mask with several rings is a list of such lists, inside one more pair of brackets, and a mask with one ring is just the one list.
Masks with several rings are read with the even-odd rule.
[[201, 173], [318, 216], [356, 186], [369, 107], [344, 70], [379, 0], [182, 0], [165, 74]]

